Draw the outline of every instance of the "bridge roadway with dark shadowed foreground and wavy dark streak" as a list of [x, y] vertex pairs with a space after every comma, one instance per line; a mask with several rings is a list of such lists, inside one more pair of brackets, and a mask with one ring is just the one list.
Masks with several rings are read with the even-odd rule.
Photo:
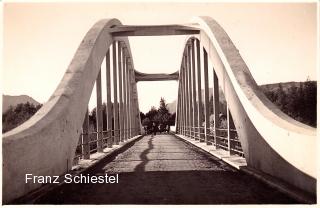
[[297, 203], [172, 135], [145, 136], [90, 174], [105, 173], [119, 173], [119, 184], [65, 184], [36, 203]]

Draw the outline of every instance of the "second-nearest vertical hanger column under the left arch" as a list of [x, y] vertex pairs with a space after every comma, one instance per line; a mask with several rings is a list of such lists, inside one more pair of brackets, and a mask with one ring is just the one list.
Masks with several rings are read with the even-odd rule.
[[101, 94], [101, 69], [99, 71], [96, 80], [97, 91], [97, 109], [96, 109], [96, 121], [97, 121], [97, 151], [102, 152], [102, 138], [103, 138], [103, 116], [102, 116], [102, 94]]

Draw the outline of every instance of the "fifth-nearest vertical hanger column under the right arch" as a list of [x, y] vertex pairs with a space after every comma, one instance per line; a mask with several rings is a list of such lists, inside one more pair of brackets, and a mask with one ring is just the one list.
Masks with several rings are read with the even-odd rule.
[[197, 95], [196, 95], [196, 72], [195, 72], [195, 52], [194, 52], [194, 39], [191, 39], [191, 65], [192, 65], [192, 112], [193, 112], [193, 122], [192, 122], [192, 128], [193, 128], [193, 138], [196, 139], [197, 137], [197, 127], [198, 127], [198, 115], [197, 115]]

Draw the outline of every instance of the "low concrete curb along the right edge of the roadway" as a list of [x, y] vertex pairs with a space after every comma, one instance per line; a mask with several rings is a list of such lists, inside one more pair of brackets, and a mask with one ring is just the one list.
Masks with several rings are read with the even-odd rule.
[[[239, 171], [253, 176], [259, 181], [265, 183], [266, 185], [277, 189], [281, 193], [284, 193], [291, 198], [297, 200], [298, 202], [304, 203], [304, 204], [316, 204], [317, 199], [314, 196], [311, 196], [309, 193], [306, 193], [305, 191], [302, 191], [288, 183], [285, 183], [283, 181], [280, 181], [279, 179], [276, 179], [270, 175], [267, 175], [265, 173], [262, 173], [261, 171], [257, 171], [255, 169], [252, 169], [248, 167], [246, 164], [243, 165], [241, 163], [234, 162], [233, 160], [229, 160], [230, 157], [226, 156], [227, 151], [224, 151], [223, 154], [222, 151], [217, 151], [215, 147], [212, 145], [206, 145], [204, 142], [199, 142], [199, 140], [190, 139], [189, 137], [186, 137], [184, 135], [174, 134], [178, 139], [181, 139], [182, 141], [191, 144], [206, 153], [209, 153], [210, 155], [222, 160], [223, 162], [227, 163], [228, 165], [238, 169]], [[211, 147], [210, 147], [211, 146]], [[244, 159], [244, 158], [243, 158]]]

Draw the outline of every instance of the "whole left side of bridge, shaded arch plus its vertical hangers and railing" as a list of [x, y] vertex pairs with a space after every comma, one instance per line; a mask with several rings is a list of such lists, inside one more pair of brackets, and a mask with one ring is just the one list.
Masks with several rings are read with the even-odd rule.
[[[97, 22], [82, 40], [49, 100], [28, 121], [3, 135], [4, 203], [41, 186], [41, 183], [26, 183], [26, 174], [63, 175], [72, 168], [75, 153], [87, 159], [90, 152], [103, 151], [104, 141], [111, 147], [140, 133], [138, 93], [129, 41], [126, 37], [112, 35], [118, 25], [121, 23], [117, 19]], [[102, 67], [104, 60], [105, 68]], [[102, 68], [106, 70], [106, 125], [102, 110]], [[92, 131], [88, 104], [94, 84], [97, 125]], [[117, 105], [112, 104], [112, 95], [112, 102]], [[89, 136], [95, 139], [90, 141]]]

